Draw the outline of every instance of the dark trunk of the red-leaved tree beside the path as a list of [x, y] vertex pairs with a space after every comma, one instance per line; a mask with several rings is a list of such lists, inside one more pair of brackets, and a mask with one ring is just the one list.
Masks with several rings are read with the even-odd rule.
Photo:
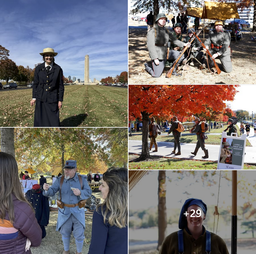
[[148, 120], [149, 113], [142, 111], [142, 151], [140, 157], [136, 161], [145, 161], [150, 158], [148, 147]]

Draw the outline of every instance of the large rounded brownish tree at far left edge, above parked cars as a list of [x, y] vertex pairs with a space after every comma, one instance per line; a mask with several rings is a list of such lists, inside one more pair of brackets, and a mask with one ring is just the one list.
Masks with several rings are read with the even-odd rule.
[[0, 60], [0, 79], [6, 80], [6, 83], [10, 79], [14, 79], [18, 75], [18, 67], [16, 63], [11, 59]]

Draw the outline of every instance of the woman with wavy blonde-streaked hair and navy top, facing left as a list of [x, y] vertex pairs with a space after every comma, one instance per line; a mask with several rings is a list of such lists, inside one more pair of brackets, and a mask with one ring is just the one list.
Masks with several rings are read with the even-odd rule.
[[88, 254], [127, 254], [128, 170], [111, 167], [101, 181], [104, 202], [93, 213]]

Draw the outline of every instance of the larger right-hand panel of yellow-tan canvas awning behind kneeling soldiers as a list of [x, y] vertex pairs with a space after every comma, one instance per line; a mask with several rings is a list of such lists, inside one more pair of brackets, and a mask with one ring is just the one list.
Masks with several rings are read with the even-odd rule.
[[236, 3], [204, 2], [201, 18], [230, 19], [239, 18]]

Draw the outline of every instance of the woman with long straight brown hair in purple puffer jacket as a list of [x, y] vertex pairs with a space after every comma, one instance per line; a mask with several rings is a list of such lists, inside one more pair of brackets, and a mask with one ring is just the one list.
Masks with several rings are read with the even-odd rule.
[[25, 199], [15, 158], [0, 152], [0, 253], [31, 254], [42, 241], [35, 212]]

